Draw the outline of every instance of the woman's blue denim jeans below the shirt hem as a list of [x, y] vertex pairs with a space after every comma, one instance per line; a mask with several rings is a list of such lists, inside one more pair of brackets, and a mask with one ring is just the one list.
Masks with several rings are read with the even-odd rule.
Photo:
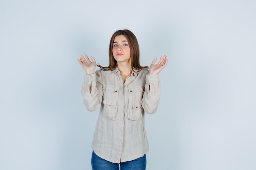
[[112, 163], [98, 157], [94, 151], [92, 151], [92, 170], [146, 170], [146, 155], [138, 159], [121, 162]]

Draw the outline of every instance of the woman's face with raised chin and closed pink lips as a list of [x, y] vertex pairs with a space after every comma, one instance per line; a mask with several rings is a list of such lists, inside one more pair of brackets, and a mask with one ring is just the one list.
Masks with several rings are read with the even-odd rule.
[[112, 53], [115, 60], [117, 61], [117, 64], [119, 62], [128, 62], [130, 64], [131, 52], [129, 42], [124, 35], [117, 35], [115, 37]]

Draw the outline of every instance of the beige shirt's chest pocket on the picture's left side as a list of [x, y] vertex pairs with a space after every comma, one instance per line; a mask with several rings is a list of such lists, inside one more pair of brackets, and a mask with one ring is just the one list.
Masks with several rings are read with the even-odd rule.
[[111, 85], [103, 86], [101, 112], [104, 117], [117, 120], [117, 99], [119, 88]]

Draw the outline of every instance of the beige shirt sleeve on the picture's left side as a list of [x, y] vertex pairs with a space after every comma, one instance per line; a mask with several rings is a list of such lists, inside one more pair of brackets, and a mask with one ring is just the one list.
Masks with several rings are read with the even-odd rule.
[[[81, 93], [83, 95], [83, 103], [87, 110], [94, 111], [99, 108], [102, 100], [102, 85], [97, 82], [100, 79], [99, 74], [94, 73], [90, 75], [85, 75], [85, 79], [81, 88]], [[92, 85], [91, 92], [89, 90], [90, 85]]]

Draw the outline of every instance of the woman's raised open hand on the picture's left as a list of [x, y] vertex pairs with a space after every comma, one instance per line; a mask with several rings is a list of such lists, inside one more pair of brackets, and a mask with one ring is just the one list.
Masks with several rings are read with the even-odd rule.
[[81, 55], [79, 59], [77, 59], [77, 61], [79, 62], [79, 64], [81, 64], [83, 69], [85, 69], [86, 74], [89, 75], [89, 74], [95, 73], [96, 62], [94, 57], [91, 56], [92, 62], [86, 54], [85, 54], [85, 57]]

